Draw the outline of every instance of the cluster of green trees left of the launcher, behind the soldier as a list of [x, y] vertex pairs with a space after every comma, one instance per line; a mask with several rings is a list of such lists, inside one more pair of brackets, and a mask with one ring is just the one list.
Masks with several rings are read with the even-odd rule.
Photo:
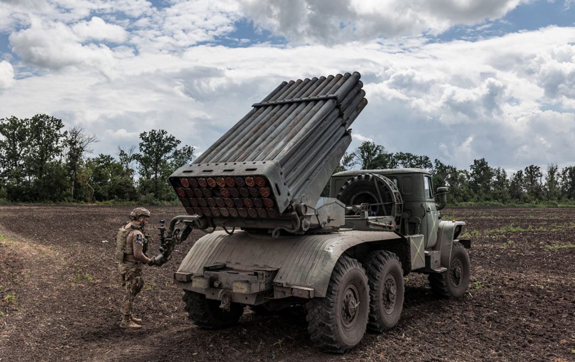
[[194, 147], [164, 130], [140, 133], [137, 146], [87, 157], [98, 142], [61, 119], [0, 119], [0, 200], [9, 202], [139, 201], [176, 198], [167, 178], [194, 159]]

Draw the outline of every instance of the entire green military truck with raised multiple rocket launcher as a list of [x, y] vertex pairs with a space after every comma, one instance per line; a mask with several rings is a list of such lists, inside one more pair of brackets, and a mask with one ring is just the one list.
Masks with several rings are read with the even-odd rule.
[[332, 174], [367, 105], [359, 79], [284, 81], [171, 174], [187, 215], [160, 229], [161, 262], [206, 232], [174, 273], [194, 324], [305, 305], [312, 341], [342, 353], [397, 324], [409, 273], [428, 274], [440, 297], [465, 294], [470, 240], [458, 239], [463, 221], [441, 220], [447, 188], [422, 169]]

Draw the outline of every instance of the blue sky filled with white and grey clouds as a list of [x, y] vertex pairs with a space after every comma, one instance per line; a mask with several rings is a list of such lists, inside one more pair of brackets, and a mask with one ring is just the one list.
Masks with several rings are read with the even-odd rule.
[[354, 142], [467, 168], [575, 164], [575, 0], [0, 0], [0, 118], [94, 153], [205, 150], [282, 80], [359, 71]]

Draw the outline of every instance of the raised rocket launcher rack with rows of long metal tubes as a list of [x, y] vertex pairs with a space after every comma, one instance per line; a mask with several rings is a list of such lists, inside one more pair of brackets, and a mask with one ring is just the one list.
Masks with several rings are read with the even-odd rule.
[[320, 198], [367, 104], [358, 72], [282, 82], [170, 183], [196, 227], [303, 233], [344, 224]]

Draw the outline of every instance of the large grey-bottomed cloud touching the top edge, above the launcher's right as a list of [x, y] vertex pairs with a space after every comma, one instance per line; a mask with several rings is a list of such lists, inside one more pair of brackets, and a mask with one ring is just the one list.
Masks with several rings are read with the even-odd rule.
[[442, 33], [500, 18], [528, 0], [239, 0], [256, 25], [298, 43]]

